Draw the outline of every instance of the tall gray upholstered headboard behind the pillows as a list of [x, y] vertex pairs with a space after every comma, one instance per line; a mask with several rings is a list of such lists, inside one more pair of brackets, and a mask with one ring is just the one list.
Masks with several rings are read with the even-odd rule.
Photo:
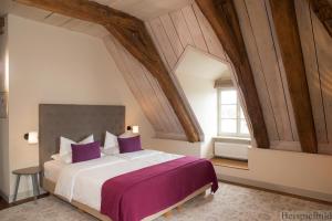
[[125, 131], [125, 106], [106, 105], [39, 105], [39, 158], [45, 161], [59, 151], [60, 136], [79, 141], [93, 134], [104, 140], [105, 131], [121, 135]]

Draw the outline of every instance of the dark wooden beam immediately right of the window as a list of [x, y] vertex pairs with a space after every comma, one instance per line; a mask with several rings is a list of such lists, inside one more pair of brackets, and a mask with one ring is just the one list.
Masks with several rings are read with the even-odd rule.
[[258, 98], [234, 1], [196, 0], [196, 2], [210, 22], [226, 53], [235, 65], [257, 146], [259, 148], [269, 148], [270, 141], [261, 104]]

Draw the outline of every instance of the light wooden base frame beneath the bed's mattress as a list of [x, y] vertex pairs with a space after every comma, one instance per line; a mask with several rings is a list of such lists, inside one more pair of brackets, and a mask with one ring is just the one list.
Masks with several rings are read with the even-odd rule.
[[[54, 190], [55, 190], [55, 182], [46, 179], [46, 178], [43, 178], [43, 189], [46, 190], [48, 192], [50, 192], [51, 194], [60, 198], [61, 200], [65, 201], [65, 202], [69, 202], [66, 199], [60, 197], [60, 196], [56, 196], [54, 194]], [[162, 210], [155, 214], [152, 214], [145, 219], [143, 219], [143, 221], [151, 221], [151, 220], [154, 220], [158, 217], [162, 217], [162, 215], [166, 215], [168, 214], [173, 209], [175, 208], [179, 208], [181, 204], [186, 203], [188, 200], [197, 197], [197, 196], [200, 196], [200, 194], [206, 194], [206, 191], [208, 189], [210, 189], [212, 186], [212, 183], [208, 183], [204, 187], [201, 187], [200, 189], [196, 190], [195, 192], [193, 192], [191, 194], [189, 194], [188, 197], [186, 197], [185, 199], [183, 199], [181, 201], [177, 202], [176, 204], [173, 204], [168, 208], [166, 208], [165, 210]], [[93, 217], [95, 217], [96, 219], [101, 220], [101, 221], [112, 221], [108, 217], [102, 214], [100, 211], [86, 206], [86, 204], [83, 204], [81, 202], [77, 202], [75, 200], [73, 200], [72, 202], [69, 202], [70, 204], [74, 206], [75, 208], [77, 208], [79, 210], [82, 210], [83, 212], [86, 212]]]

